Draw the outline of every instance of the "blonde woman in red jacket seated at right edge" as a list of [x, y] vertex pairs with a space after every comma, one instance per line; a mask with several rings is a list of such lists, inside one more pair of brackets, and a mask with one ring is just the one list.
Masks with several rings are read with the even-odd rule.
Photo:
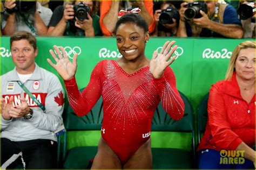
[[241, 42], [232, 53], [225, 80], [210, 90], [208, 122], [198, 146], [200, 169], [254, 169], [254, 84], [255, 42]]

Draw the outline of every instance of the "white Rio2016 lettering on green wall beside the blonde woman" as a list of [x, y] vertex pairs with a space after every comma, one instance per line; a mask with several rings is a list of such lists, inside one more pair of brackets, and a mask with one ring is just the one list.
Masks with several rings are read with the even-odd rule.
[[226, 48], [221, 49], [221, 51], [214, 52], [211, 48], [206, 48], [203, 51], [203, 59], [230, 59], [232, 52], [228, 52]]

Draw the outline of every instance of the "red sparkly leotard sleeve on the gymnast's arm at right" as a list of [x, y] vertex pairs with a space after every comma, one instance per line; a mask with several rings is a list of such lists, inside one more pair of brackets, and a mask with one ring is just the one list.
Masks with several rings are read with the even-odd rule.
[[165, 69], [164, 75], [154, 79], [157, 85], [158, 94], [164, 110], [172, 119], [178, 121], [184, 115], [184, 102], [176, 88], [176, 78], [170, 67]]

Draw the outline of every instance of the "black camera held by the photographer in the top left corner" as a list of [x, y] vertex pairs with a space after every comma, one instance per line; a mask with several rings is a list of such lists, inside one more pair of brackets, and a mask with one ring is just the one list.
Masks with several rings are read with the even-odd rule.
[[35, 14], [36, 12], [36, 1], [16, 1], [16, 6], [13, 9], [5, 8], [8, 13], [22, 13], [23, 15]]

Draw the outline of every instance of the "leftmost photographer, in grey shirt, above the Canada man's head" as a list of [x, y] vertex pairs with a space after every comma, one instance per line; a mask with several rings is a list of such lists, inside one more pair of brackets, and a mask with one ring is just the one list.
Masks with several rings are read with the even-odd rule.
[[[28, 8], [31, 8], [30, 11], [22, 11]], [[22, 30], [45, 36], [51, 16], [52, 11], [38, 2], [5, 1], [2, 15], [3, 34], [11, 36], [15, 31]]]

